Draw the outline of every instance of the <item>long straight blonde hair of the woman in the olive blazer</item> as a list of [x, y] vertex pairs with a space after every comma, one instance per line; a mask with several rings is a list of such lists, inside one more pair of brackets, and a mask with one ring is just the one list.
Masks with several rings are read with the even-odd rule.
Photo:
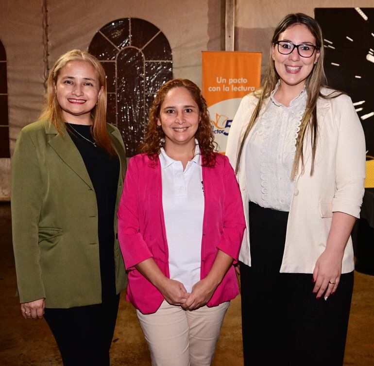
[[110, 142], [110, 138], [106, 128], [105, 71], [102, 68], [99, 60], [86, 51], [72, 50], [64, 53], [53, 65], [48, 76], [44, 107], [39, 118], [50, 121], [56, 127], [58, 133], [64, 136], [66, 131], [66, 124], [62, 117], [62, 109], [57, 101], [55, 85], [57, 83], [57, 78], [61, 69], [70, 61], [85, 61], [95, 69], [99, 80], [99, 87], [102, 88], [102, 93], [97, 102], [97, 105], [91, 111], [91, 117], [93, 119], [91, 131], [93, 138], [96, 140], [96, 143], [103, 149], [105, 149], [110, 155], [114, 155], [115, 151]]

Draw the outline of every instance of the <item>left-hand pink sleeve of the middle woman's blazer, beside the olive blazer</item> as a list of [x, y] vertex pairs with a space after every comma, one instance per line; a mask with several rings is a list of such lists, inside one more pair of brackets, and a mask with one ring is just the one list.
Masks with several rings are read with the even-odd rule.
[[140, 233], [139, 174], [136, 160], [131, 158], [118, 209], [119, 247], [128, 270], [134, 269], [136, 264], [153, 257]]

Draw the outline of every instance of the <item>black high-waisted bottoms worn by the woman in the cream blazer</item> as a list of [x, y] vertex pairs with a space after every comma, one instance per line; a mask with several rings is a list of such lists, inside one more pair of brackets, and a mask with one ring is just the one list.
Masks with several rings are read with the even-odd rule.
[[341, 366], [353, 272], [317, 300], [311, 274], [279, 273], [288, 212], [249, 205], [252, 263], [240, 263], [244, 365]]

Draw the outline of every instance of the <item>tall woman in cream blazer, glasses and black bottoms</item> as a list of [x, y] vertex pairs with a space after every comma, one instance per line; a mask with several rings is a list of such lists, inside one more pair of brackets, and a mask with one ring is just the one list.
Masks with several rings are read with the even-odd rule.
[[324, 87], [323, 52], [313, 18], [282, 19], [263, 87], [243, 98], [230, 128], [247, 225], [245, 365], [343, 363], [365, 139], [351, 99]]

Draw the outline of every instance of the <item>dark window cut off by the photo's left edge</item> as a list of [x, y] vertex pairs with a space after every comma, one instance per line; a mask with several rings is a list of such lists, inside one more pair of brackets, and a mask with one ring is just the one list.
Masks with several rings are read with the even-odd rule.
[[6, 53], [0, 41], [0, 157], [10, 157]]

